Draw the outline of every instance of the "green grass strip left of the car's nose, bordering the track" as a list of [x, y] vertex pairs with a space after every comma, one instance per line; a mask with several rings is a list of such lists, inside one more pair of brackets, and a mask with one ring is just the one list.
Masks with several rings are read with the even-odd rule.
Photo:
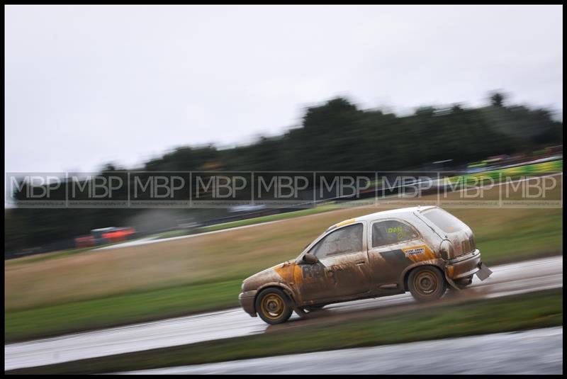
[[99, 329], [236, 307], [242, 279], [126, 293], [6, 312], [4, 341]]

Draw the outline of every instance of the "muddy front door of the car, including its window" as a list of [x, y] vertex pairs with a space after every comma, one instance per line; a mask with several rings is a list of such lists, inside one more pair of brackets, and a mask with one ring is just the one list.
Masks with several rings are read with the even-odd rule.
[[319, 261], [300, 264], [304, 303], [369, 293], [371, 277], [365, 235], [364, 222], [345, 225], [326, 234], [308, 251]]

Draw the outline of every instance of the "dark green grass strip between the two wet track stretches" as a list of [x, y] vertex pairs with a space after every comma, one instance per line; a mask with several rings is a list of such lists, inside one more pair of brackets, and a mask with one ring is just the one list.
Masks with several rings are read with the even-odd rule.
[[563, 324], [563, 289], [439, 305], [254, 336], [206, 341], [50, 366], [6, 371], [18, 374], [116, 373], [127, 370], [232, 361], [289, 353], [378, 346]]

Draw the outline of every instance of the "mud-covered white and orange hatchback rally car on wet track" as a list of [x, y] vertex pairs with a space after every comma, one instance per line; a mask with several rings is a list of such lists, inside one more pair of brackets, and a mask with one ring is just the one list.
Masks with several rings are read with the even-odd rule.
[[490, 273], [464, 222], [438, 207], [402, 208], [332, 225], [296, 259], [245, 279], [238, 298], [252, 317], [279, 324], [333, 302], [407, 291], [437, 300]]

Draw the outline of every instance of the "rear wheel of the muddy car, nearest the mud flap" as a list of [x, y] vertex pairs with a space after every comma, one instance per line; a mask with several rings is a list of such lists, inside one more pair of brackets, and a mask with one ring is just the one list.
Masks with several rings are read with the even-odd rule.
[[421, 266], [410, 272], [408, 288], [415, 300], [426, 302], [441, 298], [447, 290], [447, 282], [439, 268]]

